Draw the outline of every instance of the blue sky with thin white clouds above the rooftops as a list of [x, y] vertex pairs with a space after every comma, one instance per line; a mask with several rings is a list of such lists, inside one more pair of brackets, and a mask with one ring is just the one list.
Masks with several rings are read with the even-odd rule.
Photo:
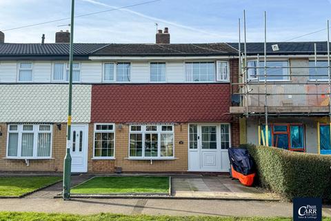
[[[76, 0], [75, 15], [131, 6], [151, 0]], [[5, 41], [54, 43], [55, 32], [70, 20], [7, 30], [70, 17], [70, 0], [0, 0], [0, 30]], [[78, 17], [74, 41], [90, 43], [154, 43], [159, 29], [169, 28], [171, 43], [238, 41], [238, 19], [246, 12], [247, 41], [263, 41], [267, 12], [268, 41], [325, 41], [331, 0], [160, 0], [140, 6]], [[243, 33], [241, 33], [243, 37]]]

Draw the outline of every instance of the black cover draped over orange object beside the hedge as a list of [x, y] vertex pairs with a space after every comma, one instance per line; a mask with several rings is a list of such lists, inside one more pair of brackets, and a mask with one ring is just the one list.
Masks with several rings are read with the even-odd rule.
[[254, 162], [246, 148], [229, 148], [229, 158], [234, 171], [243, 175], [255, 173]]

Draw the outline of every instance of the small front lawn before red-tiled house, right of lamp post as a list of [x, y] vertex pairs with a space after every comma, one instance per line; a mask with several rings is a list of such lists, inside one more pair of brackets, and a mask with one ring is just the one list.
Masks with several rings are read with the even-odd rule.
[[71, 193], [168, 193], [169, 177], [94, 177]]

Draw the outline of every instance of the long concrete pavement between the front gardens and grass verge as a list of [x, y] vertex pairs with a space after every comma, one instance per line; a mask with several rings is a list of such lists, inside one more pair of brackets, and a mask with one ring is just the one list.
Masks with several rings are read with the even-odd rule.
[[[149, 215], [292, 216], [292, 204], [240, 200], [147, 200], [49, 198], [0, 200], [0, 211], [47, 213], [121, 213]], [[330, 209], [328, 214], [331, 215]]]

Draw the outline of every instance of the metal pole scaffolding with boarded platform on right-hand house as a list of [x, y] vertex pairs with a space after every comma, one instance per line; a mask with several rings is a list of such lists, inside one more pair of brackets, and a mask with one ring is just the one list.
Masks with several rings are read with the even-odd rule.
[[[237, 93], [240, 97], [240, 111], [246, 118], [250, 115], [259, 115], [265, 118], [265, 135], [261, 134], [259, 124], [259, 140], [262, 136], [266, 146], [269, 146], [268, 141], [268, 117], [277, 116], [328, 116], [330, 135], [331, 135], [331, 74], [330, 74], [330, 26], [327, 22], [327, 64], [328, 66], [317, 66], [317, 44], [314, 44], [314, 67], [308, 66], [268, 66], [269, 55], [267, 54], [267, 16], [264, 12], [264, 42], [263, 56], [259, 54], [253, 55], [255, 66], [248, 66], [248, 52], [246, 39], [246, 15], [243, 11], [243, 51], [241, 48], [241, 19], [238, 22], [239, 30], [239, 81], [232, 82], [232, 87], [237, 88]], [[278, 47], [278, 46], [277, 46]], [[278, 48], [279, 49], [279, 48]], [[277, 48], [276, 48], [277, 50]], [[290, 56], [290, 55], [289, 55]], [[255, 59], [256, 58], [256, 59]], [[263, 61], [263, 66], [260, 65]], [[310, 75], [310, 68], [314, 68], [314, 75]], [[319, 74], [320, 68], [328, 68], [328, 75]], [[280, 77], [280, 75], [270, 75], [270, 70], [285, 69], [285, 77], [288, 81], [268, 80], [272, 77]], [[307, 74], [303, 74], [301, 70], [308, 70]], [[250, 71], [254, 71], [254, 79], [249, 77]], [[292, 70], [294, 73], [291, 73]], [[270, 71], [268, 73], [268, 71]], [[299, 74], [295, 74], [299, 72]], [[319, 77], [328, 77], [324, 81]], [[296, 81], [291, 78], [296, 78]], [[314, 77], [315, 80], [310, 79]], [[305, 80], [302, 80], [305, 79]]]

